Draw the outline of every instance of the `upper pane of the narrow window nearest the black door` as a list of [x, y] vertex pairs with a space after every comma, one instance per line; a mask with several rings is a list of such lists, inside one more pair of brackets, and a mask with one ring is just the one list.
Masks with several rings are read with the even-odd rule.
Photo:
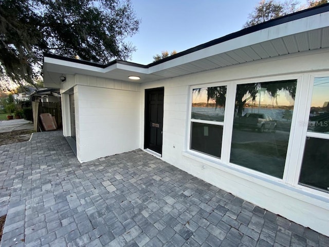
[[192, 92], [192, 119], [224, 121], [226, 86], [202, 87]]

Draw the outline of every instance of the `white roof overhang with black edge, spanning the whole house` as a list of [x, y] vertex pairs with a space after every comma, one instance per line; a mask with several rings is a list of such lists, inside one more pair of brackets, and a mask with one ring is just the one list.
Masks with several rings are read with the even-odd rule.
[[329, 47], [329, 4], [279, 17], [168, 58], [142, 65], [122, 60], [99, 64], [57, 55], [44, 55], [44, 83], [59, 87], [62, 74], [82, 74], [138, 83]]

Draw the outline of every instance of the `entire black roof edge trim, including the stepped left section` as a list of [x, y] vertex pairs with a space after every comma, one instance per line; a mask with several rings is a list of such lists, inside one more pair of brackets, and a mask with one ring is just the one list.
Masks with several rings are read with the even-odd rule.
[[312, 15], [321, 14], [321, 13], [324, 13], [324, 12], [329, 12], [329, 3], [328, 4], [323, 4], [323, 5], [320, 5], [320, 6], [316, 6], [314, 8], [310, 8], [310, 9], [304, 9], [304, 10], [301, 10], [301, 11], [298, 11], [298, 12], [295, 12], [295, 13], [291, 13], [291, 14], [288, 14], [288, 15], [278, 17], [277, 19], [269, 20], [267, 22], [263, 22], [263, 23], [260, 23], [260, 24], [257, 24], [257, 25], [251, 26], [251, 27], [247, 27], [247, 28], [242, 29], [240, 31], [230, 33], [230, 34], [228, 34], [224, 37], [221, 37], [221, 38], [206, 42], [204, 44], [197, 45], [197, 46], [192, 47], [190, 49], [178, 52], [175, 55], [169, 56], [167, 58], [163, 58], [163, 59], [158, 60], [156, 62], [152, 62], [148, 65], [143, 65], [143, 64], [139, 64], [139, 63], [133, 63], [133, 62], [127, 62], [127, 61], [123, 61], [123, 60], [119, 60], [119, 59], [113, 60], [113, 61], [111, 61], [107, 64], [100, 64], [100, 63], [95, 63], [95, 62], [90, 62], [90, 61], [85, 61], [85, 60], [79, 60], [79, 59], [75, 59], [75, 58], [67, 58], [67, 57], [63, 57], [63, 56], [59, 56], [59, 55], [53, 55], [53, 54], [44, 54], [44, 58], [48, 57], [48, 58], [60, 59], [60, 60], [68, 61], [68, 62], [75, 62], [75, 63], [85, 64], [85, 65], [90, 65], [90, 66], [95, 66], [95, 67], [100, 67], [100, 68], [106, 68], [106, 67], [111, 66], [111, 65], [116, 64], [116, 63], [135, 66], [135, 67], [140, 67], [140, 68], [150, 68], [152, 66], [155, 66], [155, 65], [173, 60], [175, 58], [179, 58], [179, 57], [188, 55], [192, 52], [202, 50], [202, 49], [208, 48], [208, 47], [213, 46], [213, 45], [217, 45], [217, 44], [229, 41], [229, 40], [233, 40], [233, 39], [245, 36], [246, 34], [257, 32], [257, 31], [260, 31], [260, 30], [263, 30], [263, 29], [266, 29], [266, 28], [270, 28], [270, 27], [274, 27], [274, 26], [284, 24], [284, 23], [287, 23], [287, 22], [296, 21], [296, 20], [299, 20], [299, 19], [302, 19], [302, 18], [305, 18], [305, 17], [309, 17], [309, 16], [312, 16]]

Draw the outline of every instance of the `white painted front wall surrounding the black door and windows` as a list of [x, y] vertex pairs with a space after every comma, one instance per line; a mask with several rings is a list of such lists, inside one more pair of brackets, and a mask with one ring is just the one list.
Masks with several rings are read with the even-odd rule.
[[[298, 122], [308, 120], [307, 85], [312, 75], [325, 73], [329, 75], [329, 50], [323, 49], [142, 84], [139, 147], [143, 149], [144, 90], [163, 86], [165, 98], [162, 160], [235, 196], [329, 236], [329, 193], [298, 185], [307, 129]], [[187, 150], [191, 85], [287, 78], [298, 79], [298, 88], [287, 153], [290, 165], [282, 180], [229, 164], [228, 161], [205, 159]], [[228, 121], [233, 122], [233, 117]], [[225, 135], [231, 135], [232, 127], [226, 129], [226, 132]], [[224, 148], [228, 151], [230, 149]]]

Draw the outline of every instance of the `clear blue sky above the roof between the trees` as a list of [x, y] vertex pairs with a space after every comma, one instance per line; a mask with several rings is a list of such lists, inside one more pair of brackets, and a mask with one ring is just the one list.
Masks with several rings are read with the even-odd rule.
[[149, 64], [162, 50], [179, 52], [239, 31], [259, 1], [131, 0], [142, 20], [139, 33], [126, 39], [137, 48], [131, 62]]

